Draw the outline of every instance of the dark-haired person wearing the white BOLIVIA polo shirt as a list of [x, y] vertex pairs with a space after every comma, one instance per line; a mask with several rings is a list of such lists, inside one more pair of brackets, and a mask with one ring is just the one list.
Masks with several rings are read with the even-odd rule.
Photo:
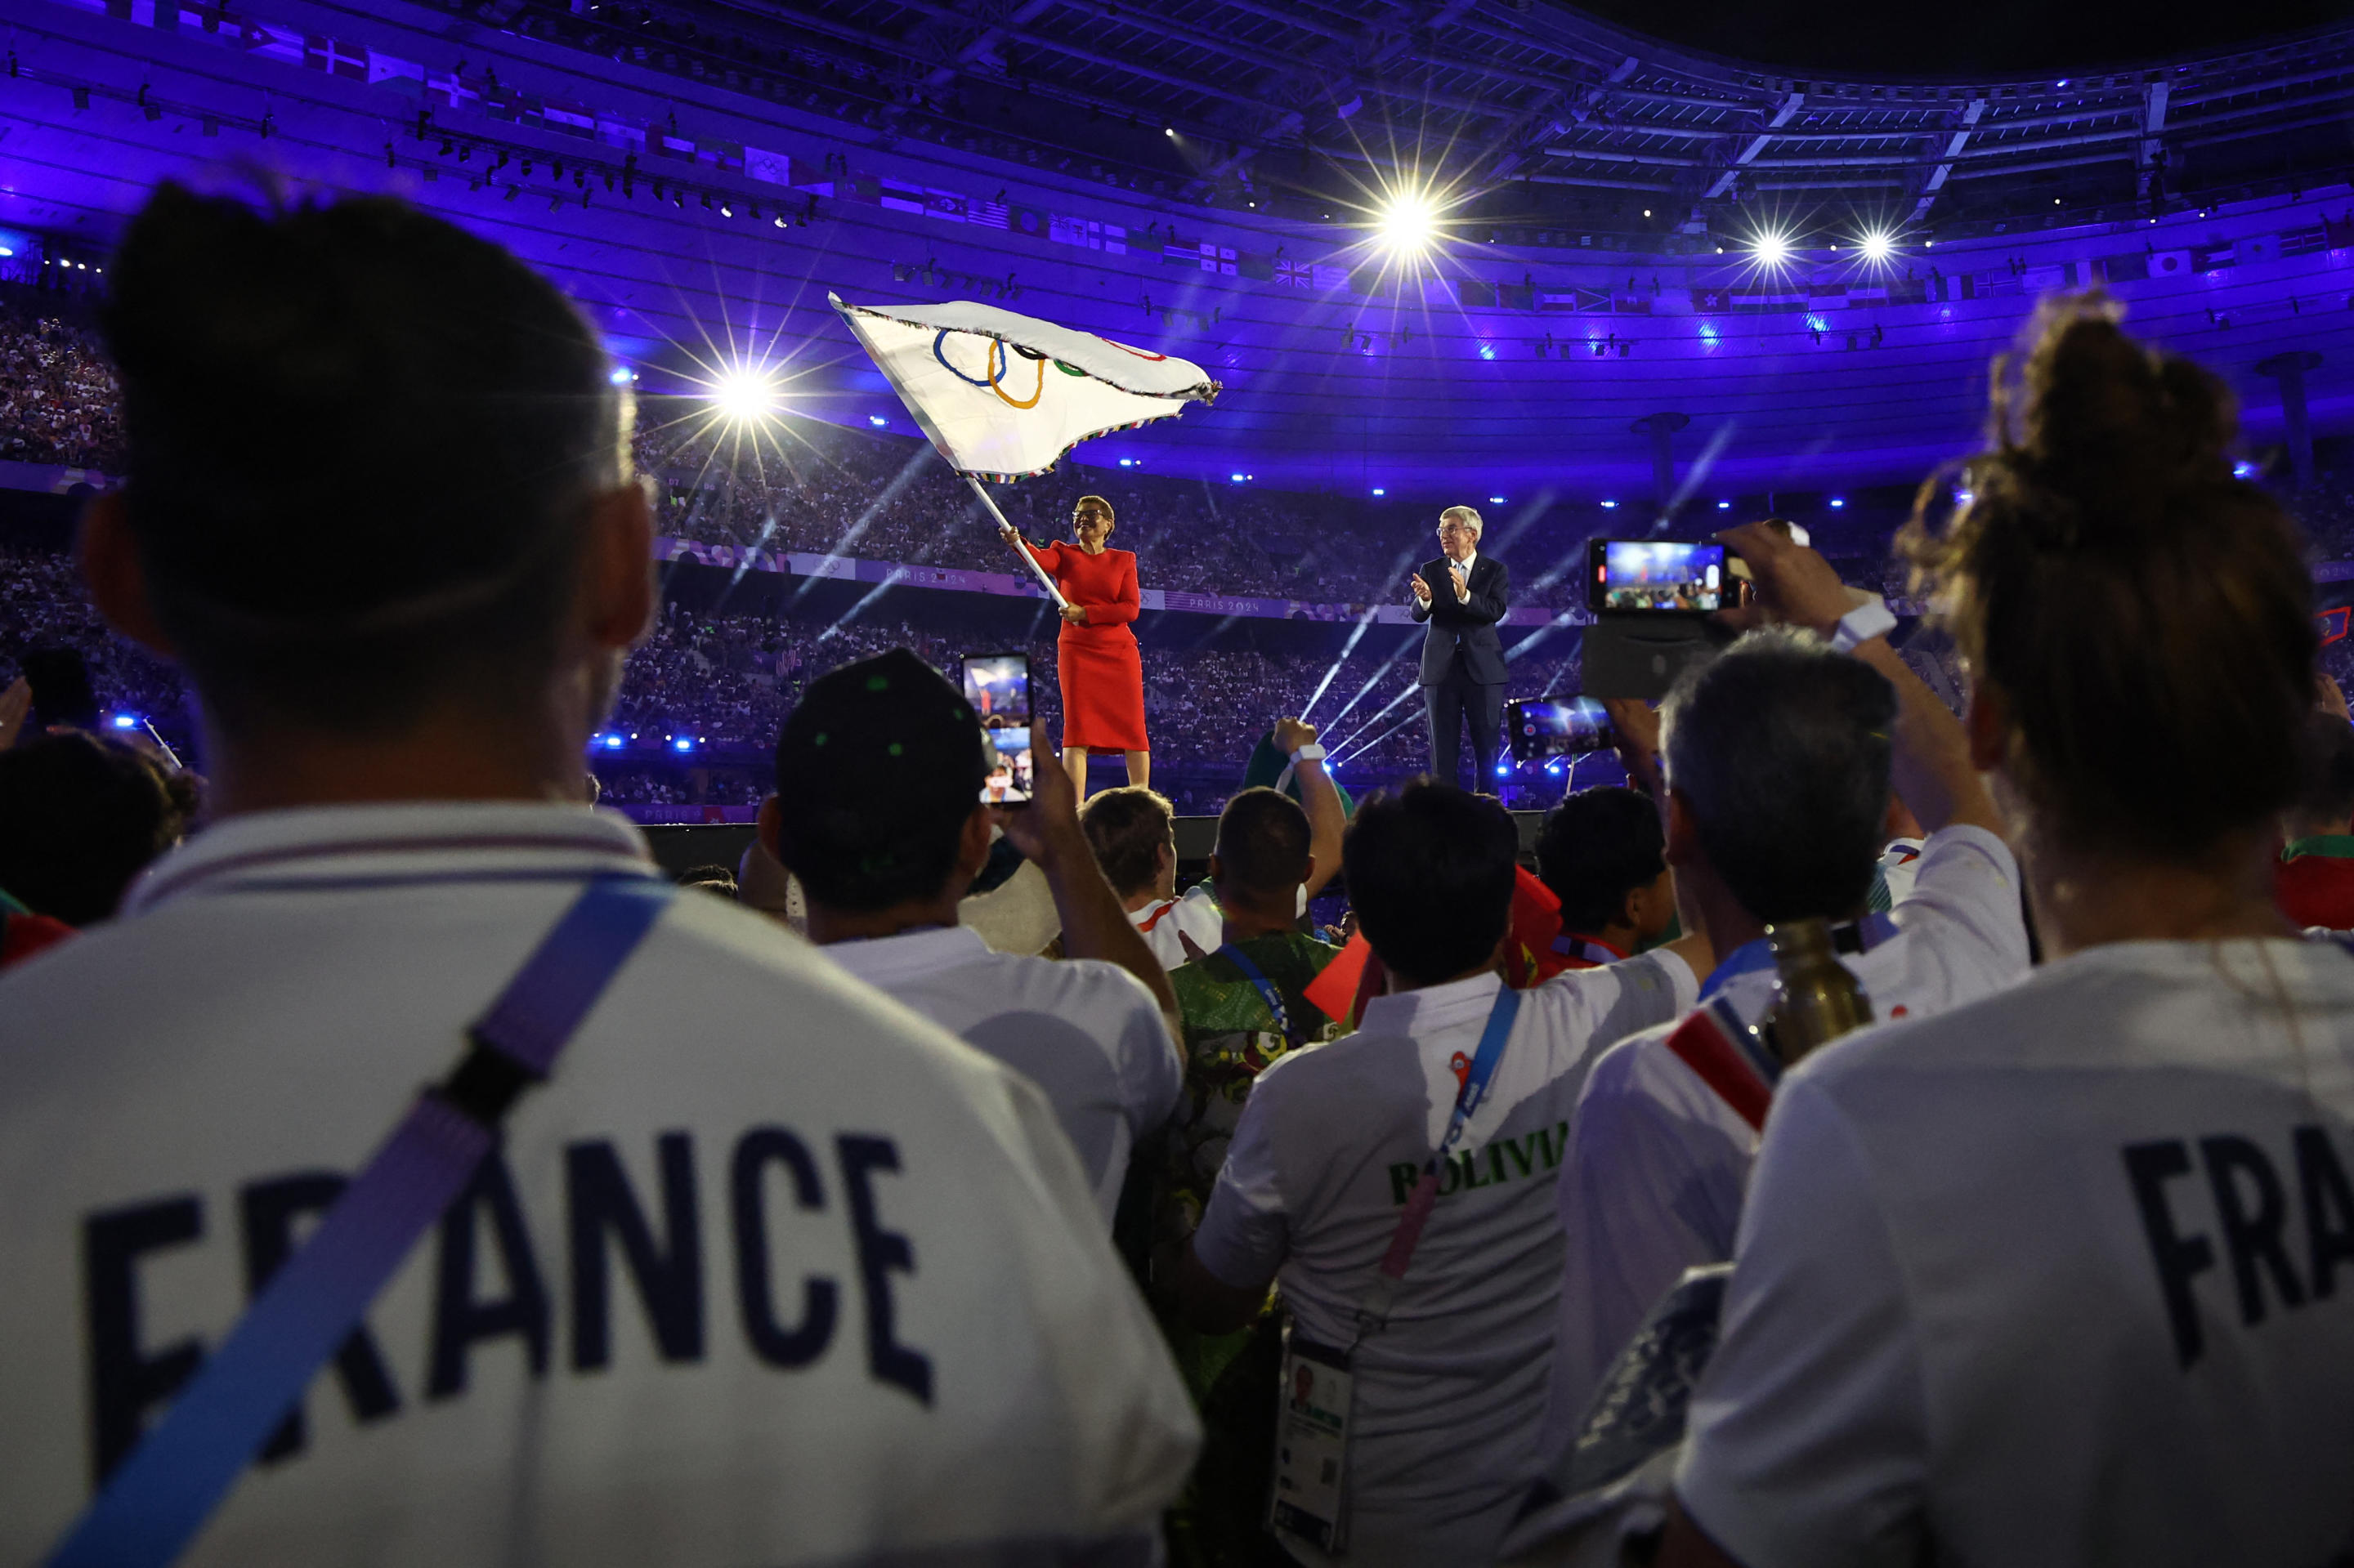
[[[1302, 1340], [1354, 1347], [1342, 1507], [1349, 1563], [1492, 1561], [1530, 1479], [1561, 1288], [1551, 1172], [1603, 1045], [1693, 1003], [1707, 939], [1561, 975], [1497, 977], [1518, 833], [1492, 798], [1408, 784], [1365, 803], [1349, 899], [1389, 970], [1354, 1036], [1269, 1064], [1179, 1267], [1205, 1333], [1248, 1323], [1274, 1281]], [[1441, 1149], [1488, 1019], [1502, 1055], [1438, 1172], [1436, 1208], [1387, 1321], [1361, 1328], [1377, 1264]], [[1281, 1493], [1278, 1493], [1281, 1495]], [[1323, 1552], [1302, 1535], [1302, 1561]]]

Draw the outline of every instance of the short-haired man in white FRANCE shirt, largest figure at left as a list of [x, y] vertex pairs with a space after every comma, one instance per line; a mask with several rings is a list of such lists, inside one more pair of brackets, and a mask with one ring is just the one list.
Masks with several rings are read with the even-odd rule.
[[108, 273], [82, 567], [217, 822], [0, 979], [0, 1561], [588, 888], [659, 916], [181, 1561], [1144, 1561], [1196, 1422], [1045, 1097], [579, 803], [654, 605], [591, 327], [391, 200], [162, 186]]

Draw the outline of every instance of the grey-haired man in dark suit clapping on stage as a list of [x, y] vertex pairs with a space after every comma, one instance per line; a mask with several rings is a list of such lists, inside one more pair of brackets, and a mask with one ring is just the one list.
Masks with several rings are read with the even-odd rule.
[[1478, 553], [1481, 520], [1469, 506], [1438, 513], [1438, 560], [1408, 579], [1422, 633], [1422, 706], [1431, 718], [1431, 772], [1455, 784], [1462, 725], [1471, 720], [1471, 789], [1495, 793], [1495, 742], [1504, 725], [1504, 619], [1511, 579], [1504, 563]]

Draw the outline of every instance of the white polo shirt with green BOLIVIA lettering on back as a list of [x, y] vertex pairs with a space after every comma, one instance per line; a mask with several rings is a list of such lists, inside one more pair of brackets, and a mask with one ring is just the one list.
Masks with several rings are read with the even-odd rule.
[[[1356, 1034], [1271, 1062], [1193, 1234], [1203, 1267], [1229, 1285], [1281, 1278], [1295, 1333], [1349, 1344], [1497, 986], [1377, 996]], [[1389, 1326], [1356, 1351], [1346, 1563], [1492, 1561], [1535, 1474], [1561, 1290], [1551, 1175], [1577, 1090], [1603, 1045], [1693, 996], [1669, 951], [1523, 994]]]

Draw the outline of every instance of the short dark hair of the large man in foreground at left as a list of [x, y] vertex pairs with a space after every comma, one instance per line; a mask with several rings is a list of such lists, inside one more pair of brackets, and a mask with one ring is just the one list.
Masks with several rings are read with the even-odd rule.
[[111, 283], [127, 518], [207, 706], [381, 732], [537, 690], [586, 501], [629, 461], [629, 398], [563, 294], [398, 200], [172, 181]]

